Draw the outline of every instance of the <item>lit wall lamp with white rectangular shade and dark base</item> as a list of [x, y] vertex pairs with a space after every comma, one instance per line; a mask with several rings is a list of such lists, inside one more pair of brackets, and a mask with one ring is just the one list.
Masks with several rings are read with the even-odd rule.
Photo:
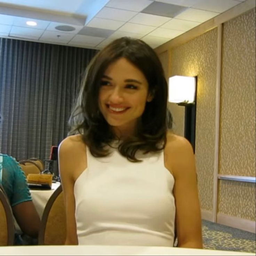
[[185, 106], [184, 137], [195, 153], [195, 118], [197, 107], [197, 77], [175, 75], [169, 78], [169, 102]]

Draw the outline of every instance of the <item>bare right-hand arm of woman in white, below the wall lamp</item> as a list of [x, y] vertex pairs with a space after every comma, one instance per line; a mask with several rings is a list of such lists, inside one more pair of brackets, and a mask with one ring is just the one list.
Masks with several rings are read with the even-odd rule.
[[178, 246], [202, 248], [201, 212], [192, 146], [185, 138], [176, 137], [168, 147], [168, 165], [175, 178], [173, 192]]

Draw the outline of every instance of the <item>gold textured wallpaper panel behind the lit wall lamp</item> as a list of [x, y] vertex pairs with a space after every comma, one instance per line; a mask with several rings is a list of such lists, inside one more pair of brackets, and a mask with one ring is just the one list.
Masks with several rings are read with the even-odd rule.
[[[171, 75], [198, 76], [195, 157], [201, 207], [213, 209], [217, 29], [171, 50]], [[172, 104], [170, 104], [172, 105]], [[174, 129], [184, 134], [184, 107], [170, 106]], [[176, 114], [176, 115], [175, 115]]]

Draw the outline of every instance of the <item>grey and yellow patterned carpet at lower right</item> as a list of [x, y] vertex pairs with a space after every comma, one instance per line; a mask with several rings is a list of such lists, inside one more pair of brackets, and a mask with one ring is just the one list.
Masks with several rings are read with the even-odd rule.
[[205, 249], [256, 253], [256, 235], [221, 224], [202, 221]]

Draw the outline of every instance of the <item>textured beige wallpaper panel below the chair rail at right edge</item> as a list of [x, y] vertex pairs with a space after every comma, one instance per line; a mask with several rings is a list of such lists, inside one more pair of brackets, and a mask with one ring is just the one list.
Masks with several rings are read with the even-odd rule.
[[218, 213], [255, 221], [255, 192], [254, 183], [221, 180]]

